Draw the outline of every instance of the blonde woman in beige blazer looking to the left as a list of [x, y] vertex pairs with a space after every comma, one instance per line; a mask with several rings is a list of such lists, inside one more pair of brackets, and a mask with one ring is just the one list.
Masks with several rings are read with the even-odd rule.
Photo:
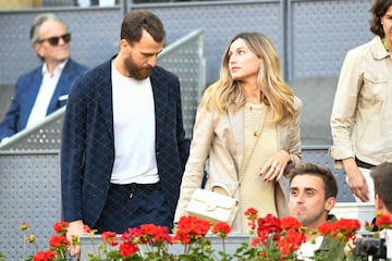
[[[229, 44], [220, 78], [198, 107], [189, 158], [174, 223], [201, 186], [230, 194], [240, 202], [233, 233], [247, 233], [244, 211], [289, 214], [282, 176], [301, 159], [302, 102], [281, 76], [272, 42], [259, 33], [242, 33]], [[223, 189], [225, 188], [225, 189]]]

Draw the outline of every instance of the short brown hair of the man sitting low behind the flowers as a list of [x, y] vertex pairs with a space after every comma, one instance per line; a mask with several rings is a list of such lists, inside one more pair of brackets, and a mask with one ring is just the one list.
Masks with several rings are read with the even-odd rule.
[[313, 175], [322, 179], [326, 199], [330, 197], [338, 197], [338, 182], [331, 170], [314, 163], [299, 163], [290, 172], [290, 184], [293, 178], [298, 175]]

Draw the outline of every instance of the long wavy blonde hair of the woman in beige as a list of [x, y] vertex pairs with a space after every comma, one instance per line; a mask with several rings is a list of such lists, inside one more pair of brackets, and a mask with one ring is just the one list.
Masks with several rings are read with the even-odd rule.
[[223, 112], [230, 105], [238, 109], [245, 104], [241, 82], [234, 80], [229, 72], [229, 50], [237, 39], [243, 39], [249, 50], [261, 59], [257, 85], [264, 102], [272, 110], [273, 121], [283, 124], [293, 121], [295, 113], [293, 90], [282, 78], [280, 59], [272, 42], [260, 33], [241, 33], [230, 41], [222, 58], [220, 78], [206, 89], [201, 105]]

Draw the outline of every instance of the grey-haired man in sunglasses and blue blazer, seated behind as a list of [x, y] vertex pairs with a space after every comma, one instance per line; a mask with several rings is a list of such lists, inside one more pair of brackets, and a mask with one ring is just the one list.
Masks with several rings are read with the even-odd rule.
[[0, 124], [0, 140], [65, 105], [72, 83], [87, 70], [70, 59], [71, 34], [54, 14], [35, 18], [30, 41], [44, 64], [17, 79], [12, 102]]

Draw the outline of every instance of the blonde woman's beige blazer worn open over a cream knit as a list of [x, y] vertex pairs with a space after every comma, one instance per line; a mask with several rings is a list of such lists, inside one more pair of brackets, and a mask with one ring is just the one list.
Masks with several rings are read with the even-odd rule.
[[[301, 110], [302, 101], [295, 97], [295, 119], [293, 123], [278, 126], [279, 150], [286, 150], [294, 162], [301, 159]], [[204, 177], [205, 165], [208, 160], [208, 179], [206, 189], [210, 189], [211, 184], [224, 184], [231, 192], [235, 191], [234, 197], [241, 204], [238, 189], [238, 171], [244, 154], [244, 109], [228, 113], [208, 111], [198, 108], [194, 125], [193, 140], [191, 145], [189, 158], [182, 178], [180, 198], [174, 215], [174, 223], [180, 217], [187, 215], [186, 206], [193, 191], [199, 188]], [[287, 200], [284, 191], [284, 184], [279, 182], [275, 187], [275, 204], [280, 216], [285, 216], [287, 212]], [[242, 215], [240, 213], [237, 215]], [[235, 219], [238, 220], [238, 219]], [[234, 221], [232, 233], [241, 233], [241, 223]]]

